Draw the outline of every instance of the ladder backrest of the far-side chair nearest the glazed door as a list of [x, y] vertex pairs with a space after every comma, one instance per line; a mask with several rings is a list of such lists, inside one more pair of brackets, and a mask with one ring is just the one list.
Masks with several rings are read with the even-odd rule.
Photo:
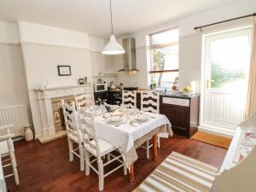
[[154, 92], [142, 92], [141, 110], [151, 113], [160, 113], [160, 94]]

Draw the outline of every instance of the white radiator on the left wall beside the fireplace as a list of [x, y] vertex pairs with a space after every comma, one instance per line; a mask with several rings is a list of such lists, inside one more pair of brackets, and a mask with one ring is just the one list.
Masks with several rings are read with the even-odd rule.
[[[26, 104], [0, 108], [0, 126], [9, 124], [15, 125], [14, 130], [12, 130], [12, 133], [15, 133], [15, 137], [22, 135], [23, 127], [29, 125]], [[0, 135], [3, 134], [0, 131]]]

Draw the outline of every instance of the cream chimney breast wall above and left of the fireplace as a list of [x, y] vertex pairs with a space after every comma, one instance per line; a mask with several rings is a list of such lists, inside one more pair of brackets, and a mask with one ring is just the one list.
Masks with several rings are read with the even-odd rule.
[[[34, 89], [47, 82], [48, 87], [78, 84], [78, 79], [91, 78], [89, 37], [87, 33], [18, 22], [20, 44], [26, 69], [26, 82], [36, 136], [42, 123]], [[58, 65], [70, 65], [71, 76], [59, 76]]]

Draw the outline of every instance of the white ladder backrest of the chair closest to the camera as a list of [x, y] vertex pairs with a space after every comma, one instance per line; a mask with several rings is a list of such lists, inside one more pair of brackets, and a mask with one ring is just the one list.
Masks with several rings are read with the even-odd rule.
[[[96, 150], [97, 157], [100, 158], [100, 147], [97, 139], [96, 125], [93, 113], [86, 111], [85, 108], [78, 110], [79, 128], [82, 132], [84, 148]], [[92, 142], [94, 141], [94, 142]]]

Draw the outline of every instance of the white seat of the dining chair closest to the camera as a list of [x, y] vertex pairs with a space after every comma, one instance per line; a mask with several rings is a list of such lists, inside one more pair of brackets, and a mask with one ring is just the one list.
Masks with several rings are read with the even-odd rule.
[[[92, 145], [96, 145], [95, 140], [91, 140], [90, 143]], [[104, 154], [108, 154], [112, 151], [114, 151], [116, 148], [113, 147], [112, 144], [106, 142], [105, 140], [98, 139], [99, 148], [100, 148], [100, 154], [103, 156]], [[84, 143], [84, 148], [90, 152], [90, 154], [93, 154], [94, 156], [97, 156], [96, 149], [91, 148], [89, 144]]]

